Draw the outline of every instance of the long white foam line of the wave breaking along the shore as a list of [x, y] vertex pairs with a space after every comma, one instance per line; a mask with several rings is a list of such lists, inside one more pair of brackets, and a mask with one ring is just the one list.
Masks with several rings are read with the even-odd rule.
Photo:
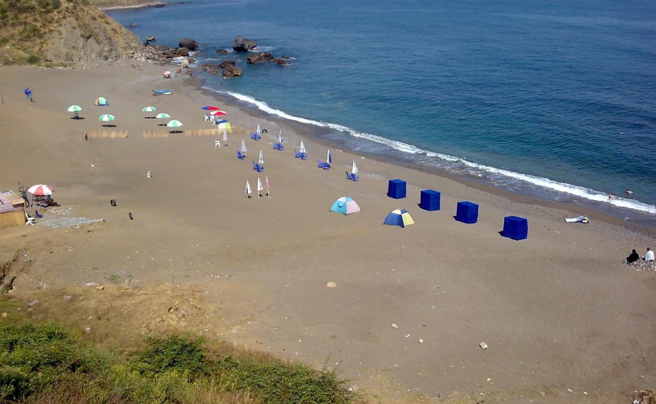
[[[331, 129], [335, 129], [338, 131], [343, 131], [346, 133], [349, 133], [350, 135], [354, 137], [359, 137], [363, 139], [367, 139], [369, 141], [373, 141], [376, 143], [379, 143], [381, 145], [389, 146], [391, 148], [394, 148], [396, 150], [400, 150], [401, 152], [406, 152], [410, 154], [422, 154], [427, 157], [432, 157], [432, 158], [439, 158], [441, 160], [444, 160], [446, 162], [451, 162], [455, 164], [459, 164], [461, 166], [464, 166], [465, 168], [468, 169], [474, 169], [474, 171], [483, 171], [487, 173], [488, 175], [501, 175], [504, 177], [516, 179], [518, 181], [523, 181], [525, 183], [529, 183], [531, 185], [535, 185], [538, 187], [543, 187], [546, 189], [550, 189], [552, 191], [557, 191], [557, 192], [564, 192], [565, 194], [570, 194], [573, 196], [578, 196], [579, 198], [585, 198], [588, 200], [593, 200], [595, 202], [605, 202], [608, 204], [611, 204], [613, 206], [617, 206], [618, 208], [627, 208], [627, 209], [632, 209], [632, 210], [638, 210], [641, 212], [647, 212], [647, 213], [652, 213], [656, 214], [656, 206], [651, 205], [651, 204], [646, 204], [644, 202], [640, 202], [638, 200], [630, 200], [626, 198], [620, 198], [620, 197], [615, 197], [613, 199], [609, 199], [608, 196], [599, 191], [595, 191], [594, 189], [586, 188], [586, 187], [580, 187], [578, 185], [572, 185], [568, 183], [561, 183], [558, 181], [554, 181], [552, 179], [544, 178], [544, 177], [537, 177], [536, 175], [530, 175], [530, 174], [523, 174], [523, 173], [517, 173], [515, 171], [510, 171], [507, 169], [501, 169], [501, 168], [495, 168], [491, 166], [485, 166], [483, 164], [478, 164], [474, 162], [470, 162], [468, 160], [464, 160], [464, 158], [460, 157], [455, 157], [455, 156], [449, 156], [449, 154], [441, 154], [441, 153], [436, 153], [436, 152], [430, 152], [428, 150], [424, 150], [422, 148], [419, 148], [417, 146], [409, 145], [407, 143], [403, 143], [400, 141], [393, 141], [392, 139], [387, 139], [386, 137], [381, 137], [378, 135], [372, 135], [371, 133], [363, 133], [356, 131], [355, 129], [351, 129], [350, 127], [344, 126], [344, 125], [339, 125], [338, 123], [328, 123], [328, 122], [320, 122], [316, 120], [310, 120], [308, 118], [302, 118], [300, 116], [293, 116], [290, 114], [287, 114], [287, 112], [277, 110], [275, 108], [270, 107], [266, 102], [259, 101], [254, 99], [253, 97], [250, 97], [248, 95], [244, 95], [241, 93], [234, 93], [233, 91], [224, 91], [224, 93], [227, 93], [229, 95], [232, 95], [232, 97], [235, 97], [238, 100], [249, 102], [250, 104], [255, 105], [257, 108], [260, 110], [267, 112], [268, 114], [276, 115], [281, 118], [285, 118], [287, 120], [292, 120], [295, 122], [300, 122], [300, 123], [306, 123], [308, 125], [316, 125], [320, 127], [329, 127]], [[474, 172], [476, 174], [476, 172]]]

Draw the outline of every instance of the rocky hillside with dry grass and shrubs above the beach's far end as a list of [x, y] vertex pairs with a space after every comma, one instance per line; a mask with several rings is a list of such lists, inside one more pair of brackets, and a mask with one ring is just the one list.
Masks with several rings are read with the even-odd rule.
[[0, 64], [115, 60], [141, 49], [88, 0], [0, 0]]

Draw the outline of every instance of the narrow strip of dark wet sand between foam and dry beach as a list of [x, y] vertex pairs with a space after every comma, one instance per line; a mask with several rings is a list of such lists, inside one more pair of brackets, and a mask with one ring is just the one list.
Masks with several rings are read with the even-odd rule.
[[[366, 158], [369, 158], [371, 160], [376, 160], [378, 162], [392, 164], [394, 166], [400, 166], [403, 168], [415, 169], [422, 173], [428, 173], [430, 175], [436, 175], [436, 177], [440, 177], [443, 179], [457, 181], [462, 185], [465, 185], [466, 187], [471, 187], [473, 189], [477, 189], [478, 191], [489, 192], [497, 196], [502, 196], [503, 198], [506, 198], [511, 202], [518, 202], [526, 205], [538, 205], [538, 206], [543, 206], [545, 208], [565, 210], [567, 212], [571, 212], [572, 217], [577, 217], [579, 215], [586, 215], [594, 220], [600, 220], [603, 221], [604, 223], [626, 227], [626, 229], [629, 229], [630, 231], [636, 231], [638, 233], [643, 233], [644, 235], [649, 235], [649, 236], [656, 236], [656, 225], [654, 227], [650, 227], [648, 225], [642, 225], [639, 223], [627, 222], [626, 220], [622, 219], [618, 215], [613, 215], [611, 213], [603, 212], [602, 210], [599, 210], [594, 207], [584, 206], [584, 205], [579, 206], [573, 202], [561, 202], [556, 200], [549, 200], [546, 198], [541, 198], [539, 196], [518, 194], [516, 192], [508, 191], [503, 187], [486, 183], [481, 179], [476, 179], [466, 174], [455, 173], [453, 171], [449, 171], [448, 169], [431, 167], [428, 164], [422, 164], [421, 162], [409, 162], [407, 160], [403, 160], [401, 158], [394, 158], [393, 156], [389, 156], [389, 155], [382, 156], [381, 154], [373, 154], [369, 152], [363, 152], [361, 150], [352, 150], [351, 148], [349, 148], [348, 145], [344, 145], [343, 142], [337, 143], [336, 141], [330, 141], [328, 139], [312, 135], [312, 129], [314, 129], [313, 125], [295, 122], [293, 120], [287, 120], [285, 118], [276, 116], [274, 114], [270, 114], [268, 112], [262, 111], [253, 104], [249, 104], [245, 101], [239, 101], [238, 99], [232, 97], [231, 95], [224, 95], [216, 91], [213, 91], [212, 89], [203, 87], [205, 81], [206, 78], [195, 76], [194, 79], [192, 79], [188, 83], [188, 85], [194, 87], [196, 91], [200, 91], [201, 93], [209, 97], [213, 97], [217, 101], [224, 102], [225, 104], [228, 104], [233, 108], [241, 108], [243, 110], [247, 110], [248, 111], [247, 113], [253, 116], [267, 118], [275, 122], [284, 123], [285, 126], [289, 128], [293, 128], [293, 131], [295, 131], [295, 133], [297, 133], [297, 135], [299, 135], [300, 137], [303, 137], [304, 140], [306, 141], [312, 140], [323, 146], [336, 148], [337, 150], [346, 151], [349, 152], [350, 154], [365, 156]], [[436, 190], [436, 191], [440, 191], [440, 190]]]

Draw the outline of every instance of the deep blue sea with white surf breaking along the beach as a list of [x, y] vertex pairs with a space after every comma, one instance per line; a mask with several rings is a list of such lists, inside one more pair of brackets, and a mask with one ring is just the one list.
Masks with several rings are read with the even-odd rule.
[[[201, 74], [203, 87], [356, 152], [656, 227], [653, 0], [199, 0], [108, 14], [155, 43], [195, 39], [196, 64], [236, 60], [241, 78]], [[289, 66], [248, 65], [237, 35]]]

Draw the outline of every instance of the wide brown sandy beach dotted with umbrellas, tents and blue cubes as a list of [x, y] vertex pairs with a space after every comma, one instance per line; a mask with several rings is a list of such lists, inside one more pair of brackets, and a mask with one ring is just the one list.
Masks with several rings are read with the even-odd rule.
[[[298, 125], [215, 99], [190, 78], [165, 79], [170, 66], [131, 64], [0, 68], [0, 189], [43, 183], [60, 204], [35, 226], [0, 230], [0, 259], [22, 248], [32, 260], [15, 296], [64, 304], [45, 294], [87, 296], [87, 282], [107, 284], [71, 306], [77, 324], [94, 307], [119, 307], [137, 293], [186, 290], [202, 311], [178, 326], [326, 365], [356, 390], [386, 388], [390, 400], [458, 391], [489, 397], [485, 403], [619, 403], [653, 390], [656, 273], [622, 264], [632, 248], [641, 256], [656, 248], [653, 235], [595, 212], [508, 198], [347, 150], [331, 148], [333, 168], [318, 169], [327, 146], [303, 137]], [[155, 97], [153, 89], [173, 95]], [[100, 96], [108, 106], [93, 105]], [[83, 108], [84, 120], [71, 119], [71, 104]], [[236, 125], [228, 147], [215, 148], [220, 136], [212, 135], [143, 137], [162, 123], [146, 119], [154, 114], [144, 106], [192, 131], [212, 128], [200, 108], [208, 104], [223, 107]], [[114, 115], [112, 129], [128, 137], [85, 141], [85, 133], [104, 129], [101, 114]], [[267, 133], [253, 141], [246, 132], [258, 123]], [[272, 149], [279, 130], [283, 151]], [[242, 139], [243, 161], [235, 152]], [[301, 140], [306, 161], [293, 157]], [[264, 171], [256, 173], [251, 161], [260, 149]], [[344, 178], [353, 159], [357, 183]], [[258, 198], [265, 175], [271, 197]], [[386, 196], [396, 178], [407, 181], [405, 199]], [[244, 194], [247, 180], [252, 198]], [[423, 189], [441, 192], [441, 210], [417, 206]], [[344, 195], [361, 212], [329, 212]], [[480, 205], [475, 225], [453, 218], [464, 200]], [[416, 224], [382, 225], [398, 207]], [[563, 220], [581, 213], [592, 223]], [[43, 225], [64, 215], [103, 221]], [[527, 240], [499, 235], [507, 215], [528, 219]], [[151, 332], [159, 303], [140, 304], [125, 309], [123, 321]]]

